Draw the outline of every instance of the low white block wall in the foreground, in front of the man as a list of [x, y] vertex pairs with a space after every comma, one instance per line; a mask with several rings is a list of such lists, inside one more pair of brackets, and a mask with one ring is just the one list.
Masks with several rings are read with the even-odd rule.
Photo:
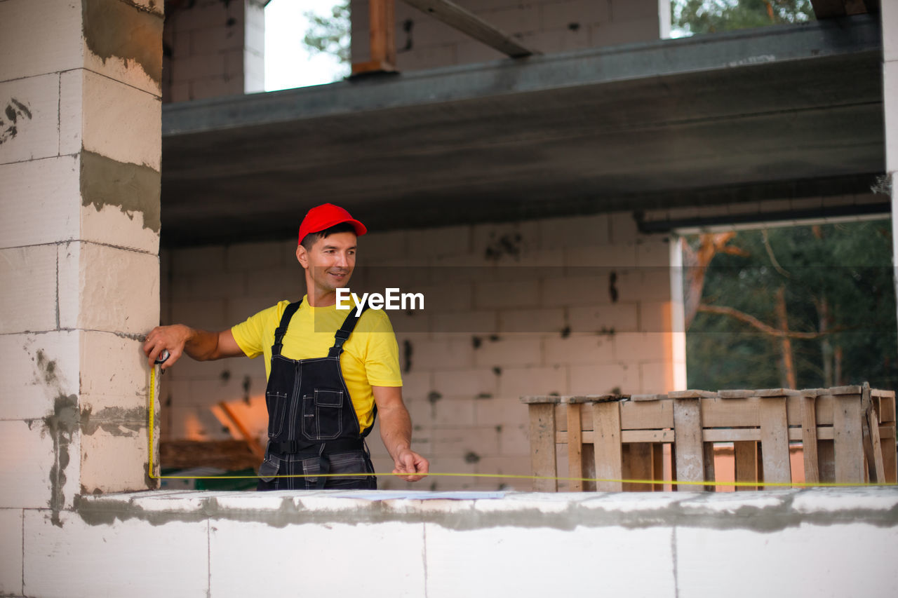
[[[53, 525], [0, 509], [7, 595], [521, 598], [600, 593], [892, 596], [894, 488], [505, 493], [370, 500], [365, 492], [86, 497]], [[21, 530], [24, 529], [24, 534]], [[354, 575], [343, 581], [340, 572]], [[744, 576], [752, 571], [751, 578]], [[305, 575], [306, 572], [309, 575]], [[302, 577], [302, 581], [299, 578]], [[361, 581], [360, 581], [361, 580]], [[735, 582], [734, 580], [741, 580]]]

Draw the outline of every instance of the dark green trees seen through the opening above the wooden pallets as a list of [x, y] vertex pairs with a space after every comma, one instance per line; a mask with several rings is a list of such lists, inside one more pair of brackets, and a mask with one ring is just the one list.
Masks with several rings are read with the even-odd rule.
[[[784, 386], [777, 294], [784, 290], [798, 388], [898, 383], [889, 221], [743, 231], [717, 253], [687, 333], [690, 388]], [[698, 237], [687, 240], [696, 248]], [[688, 278], [688, 276], [687, 276]], [[726, 312], [711, 310], [724, 307]], [[796, 334], [797, 333], [797, 334]]]

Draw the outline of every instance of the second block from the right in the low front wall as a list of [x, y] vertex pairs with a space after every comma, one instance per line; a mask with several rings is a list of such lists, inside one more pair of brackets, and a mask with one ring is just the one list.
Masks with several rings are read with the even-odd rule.
[[[582, 595], [596, 579], [607, 595], [675, 595], [669, 528], [579, 526], [534, 533], [511, 526], [466, 532], [436, 523], [426, 526], [429, 598], [468, 594], [475, 579], [481, 596]], [[521, 566], [535, 554], [542, 555], [539, 567]]]

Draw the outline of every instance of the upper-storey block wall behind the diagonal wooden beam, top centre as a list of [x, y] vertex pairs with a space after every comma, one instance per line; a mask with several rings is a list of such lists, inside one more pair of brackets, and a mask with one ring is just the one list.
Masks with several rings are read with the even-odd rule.
[[[669, 0], [459, 0], [463, 8], [543, 54], [665, 38]], [[352, 60], [370, 56], [368, 3], [352, 0]], [[396, 3], [400, 71], [506, 58], [480, 41], [401, 2]], [[410, 22], [410, 31], [405, 25]], [[410, 47], [409, 47], [410, 46]]]

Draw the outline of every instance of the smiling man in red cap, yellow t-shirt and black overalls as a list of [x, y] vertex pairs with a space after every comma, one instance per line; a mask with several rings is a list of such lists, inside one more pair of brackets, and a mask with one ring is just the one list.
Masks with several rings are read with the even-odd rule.
[[[306, 295], [282, 301], [230, 330], [208, 332], [182, 324], [147, 335], [150, 366], [180, 356], [200, 361], [265, 356], [269, 444], [259, 470], [260, 490], [376, 488], [365, 435], [381, 417], [381, 438], [401, 479], [427, 475], [427, 459], [411, 450], [411, 421], [402, 402], [399, 349], [386, 313], [337, 309], [337, 289], [356, 266], [365, 225], [342, 207], [313, 207], [299, 227], [296, 259]], [[358, 473], [358, 476], [321, 476]], [[309, 477], [289, 477], [309, 476]]]

